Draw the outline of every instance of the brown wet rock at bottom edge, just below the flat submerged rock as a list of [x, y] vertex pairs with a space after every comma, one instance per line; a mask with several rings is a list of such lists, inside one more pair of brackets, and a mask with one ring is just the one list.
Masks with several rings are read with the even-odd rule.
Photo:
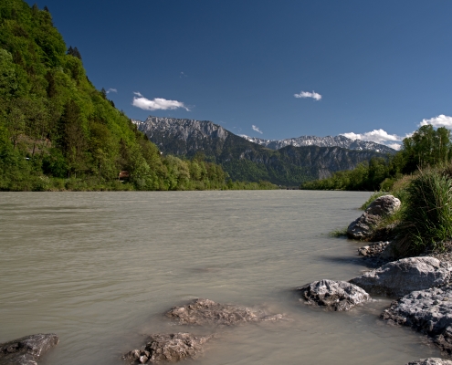
[[194, 336], [192, 333], [152, 335], [142, 349], [133, 349], [122, 356], [130, 364], [194, 359], [204, 352], [204, 344], [214, 335]]

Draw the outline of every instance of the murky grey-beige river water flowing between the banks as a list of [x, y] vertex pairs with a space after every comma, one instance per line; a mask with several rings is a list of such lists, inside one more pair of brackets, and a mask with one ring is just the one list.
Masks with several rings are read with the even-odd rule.
[[0, 343], [55, 332], [45, 365], [122, 364], [145, 334], [193, 331], [162, 314], [195, 297], [289, 320], [218, 329], [199, 365], [405, 364], [437, 349], [378, 316], [301, 303], [292, 288], [363, 270], [349, 224], [369, 193], [1, 193]]

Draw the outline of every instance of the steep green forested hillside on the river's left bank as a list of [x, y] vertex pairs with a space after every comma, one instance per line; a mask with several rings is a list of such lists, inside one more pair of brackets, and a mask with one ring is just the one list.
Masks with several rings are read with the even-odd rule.
[[0, 191], [266, 189], [163, 156], [96, 89], [47, 7], [0, 3]]

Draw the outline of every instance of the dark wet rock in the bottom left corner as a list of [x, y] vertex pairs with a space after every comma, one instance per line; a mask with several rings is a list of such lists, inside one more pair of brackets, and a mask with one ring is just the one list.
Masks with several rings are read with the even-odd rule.
[[54, 333], [26, 336], [0, 344], [0, 365], [36, 365], [37, 360], [58, 344]]

